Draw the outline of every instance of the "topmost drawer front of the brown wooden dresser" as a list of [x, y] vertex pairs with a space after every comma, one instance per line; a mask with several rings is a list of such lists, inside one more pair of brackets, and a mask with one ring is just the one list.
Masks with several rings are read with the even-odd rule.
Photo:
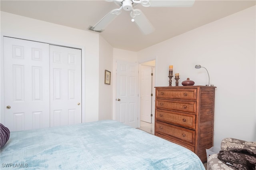
[[196, 100], [197, 89], [156, 89], [156, 97]]

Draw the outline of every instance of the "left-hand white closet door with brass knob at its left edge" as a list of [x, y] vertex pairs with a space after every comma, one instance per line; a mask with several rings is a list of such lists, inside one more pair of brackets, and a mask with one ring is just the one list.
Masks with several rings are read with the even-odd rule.
[[4, 37], [5, 125], [49, 127], [49, 45]]

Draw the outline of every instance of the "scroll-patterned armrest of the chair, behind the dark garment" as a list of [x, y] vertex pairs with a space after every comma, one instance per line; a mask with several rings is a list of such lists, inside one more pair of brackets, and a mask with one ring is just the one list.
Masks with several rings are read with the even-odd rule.
[[256, 142], [249, 142], [236, 138], [224, 138], [221, 142], [221, 150], [249, 149], [256, 152]]

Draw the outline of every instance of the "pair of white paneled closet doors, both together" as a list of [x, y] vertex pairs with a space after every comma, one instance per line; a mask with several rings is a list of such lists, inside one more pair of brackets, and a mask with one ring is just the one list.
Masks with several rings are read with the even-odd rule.
[[4, 37], [4, 125], [82, 123], [81, 49]]

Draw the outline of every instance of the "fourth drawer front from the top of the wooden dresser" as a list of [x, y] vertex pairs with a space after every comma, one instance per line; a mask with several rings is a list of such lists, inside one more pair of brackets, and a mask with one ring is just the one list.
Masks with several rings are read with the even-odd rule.
[[195, 131], [156, 121], [155, 132], [166, 134], [188, 144], [195, 144]]

